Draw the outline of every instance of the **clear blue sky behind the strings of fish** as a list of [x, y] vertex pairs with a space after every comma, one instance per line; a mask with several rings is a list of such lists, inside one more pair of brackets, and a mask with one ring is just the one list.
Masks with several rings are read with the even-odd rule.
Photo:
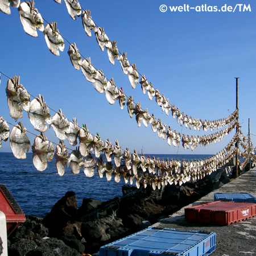
[[[240, 113], [242, 131], [247, 134], [247, 118], [251, 118], [251, 132], [255, 127], [255, 69], [256, 69], [256, 3], [250, 3], [251, 13], [160, 13], [159, 6], [166, 5], [235, 5], [237, 1], [84, 1], [84, 9], [92, 11], [92, 18], [105, 28], [110, 40], [117, 40], [120, 51], [126, 51], [130, 63], [146, 74], [156, 88], [183, 110], [196, 118], [217, 119], [228, 116], [236, 106], [234, 77], [240, 80]], [[240, 1], [241, 2], [241, 1]], [[239, 2], [239, 3], [240, 3]], [[132, 89], [127, 76], [118, 63], [109, 63], [106, 52], [101, 52], [94, 35], [88, 38], [81, 19], [73, 21], [64, 1], [58, 5], [53, 0], [35, 1], [36, 7], [49, 22], [56, 21], [61, 34], [76, 42], [84, 56], [90, 56], [96, 68], [113, 77], [127, 95], [133, 95], [143, 108], [186, 134], [195, 133], [181, 129], [171, 116], [166, 116], [143, 96], [140, 87]], [[32, 38], [23, 31], [18, 11], [11, 15], [0, 13], [0, 71], [9, 76], [20, 75], [22, 84], [34, 95], [42, 94], [53, 109], [61, 108], [69, 118], [76, 117], [86, 123], [92, 133], [103, 139], [118, 139], [122, 147], [152, 154], [176, 154], [151, 128], [137, 127], [126, 108], [119, 109], [118, 102], [109, 105], [104, 94], [99, 94], [87, 82], [81, 71], [76, 71], [67, 54], [68, 44], [60, 57], [52, 55], [39, 32]], [[9, 116], [5, 94], [6, 79], [0, 86], [0, 115], [15, 123]], [[33, 131], [24, 114], [22, 120]], [[54, 141], [53, 132], [47, 133]], [[213, 154], [221, 150], [233, 134], [221, 143], [207, 148], [198, 147], [195, 154]], [[32, 137], [31, 143], [32, 143]], [[255, 143], [255, 137], [253, 137]], [[10, 151], [9, 142], [3, 143], [2, 152]], [[180, 154], [192, 151], [179, 149]], [[193, 153], [192, 153], [193, 154]]]

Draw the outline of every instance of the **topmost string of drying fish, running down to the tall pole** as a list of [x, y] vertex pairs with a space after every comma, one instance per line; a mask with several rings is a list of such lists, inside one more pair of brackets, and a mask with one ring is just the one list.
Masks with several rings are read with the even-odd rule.
[[[60, 1], [56, 2], [60, 3]], [[67, 1], [65, 1], [65, 3], [67, 5]], [[207, 131], [219, 129], [220, 127], [229, 125], [230, 122], [238, 117], [237, 110], [235, 110], [227, 118], [214, 121], [196, 119], [184, 114], [179, 108], [172, 105], [164, 94], [161, 94], [158, 89], [155, 89], [152, 83], [147, 80], [146, 76], [142, 75], [141, 80], [139, 80], [139, 73], [136, 65], [130, 64], [129, 60], [127, 59], [127, 53], [119, 55], [117, 42], [110, 41], [108, 35], [106, 35], [104, 31], [104, 28], [96, 26], [96, 23], [93, 21], [89, 10], [82, 11], [78, 1], [75, 1], [73, 7], [71, 7], [71, 4], [67, 5], [67, 9], [69, 15], [71, 15], [73, 19], [76, 19], [76, 16], [82, 16], [82, 25], [86, 34], [88, 36], [92, 36], [92, 31], [94, 32], [101, 50], [104, 51], [105, 48], [107, 49], [110, 63], [114, 64], [115, 59], [119, 61], [122, 71], [128, 76], [132, 88], [136, 88], [137, 84], [141, 84], [143, 94], [147, 93], [150, 100], [155, 97], [156, 104], [162, 108], [163, 112], [165, 112], [167, 115], [172, 113], [172, 116], [177, 118], [177, 122], [180, 123], [180, 125], [185, 125], [185, 127], [189, 127], [189, 129], [203, 129], [204, 131]]]

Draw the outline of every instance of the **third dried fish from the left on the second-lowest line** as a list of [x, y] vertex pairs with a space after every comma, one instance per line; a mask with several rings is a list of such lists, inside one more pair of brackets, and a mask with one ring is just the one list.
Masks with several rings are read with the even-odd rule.
[[47, 123], [52, 127], [58, 139], [60, 139], [61, 141], [64, 141], [64, 139], [67, 139], [65, 132], [69, 127], [69, 121], [67, 118], [65, 118], [61, 109], [59, 110], [59, 112], [53, 115], [53, 117], [49, 118]]

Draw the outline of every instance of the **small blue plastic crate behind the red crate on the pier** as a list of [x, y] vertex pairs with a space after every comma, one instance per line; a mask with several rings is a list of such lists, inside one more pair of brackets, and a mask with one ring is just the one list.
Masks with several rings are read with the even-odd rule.
[[249, 193], [214, 193], [214, 201], [232, 201], [236, 203], [256, 203]]

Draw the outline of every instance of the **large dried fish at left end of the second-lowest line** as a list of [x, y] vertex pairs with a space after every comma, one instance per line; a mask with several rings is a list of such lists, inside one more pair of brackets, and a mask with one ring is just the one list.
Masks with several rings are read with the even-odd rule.
[[14, 76], [7, 81], [6, 95], [9, 106], [10, 116], [15, 120], [22, 118], [22, 111], [28, 112], [30, 109], [30, 95], [27, 90], [21, 85], [20, 77]]

